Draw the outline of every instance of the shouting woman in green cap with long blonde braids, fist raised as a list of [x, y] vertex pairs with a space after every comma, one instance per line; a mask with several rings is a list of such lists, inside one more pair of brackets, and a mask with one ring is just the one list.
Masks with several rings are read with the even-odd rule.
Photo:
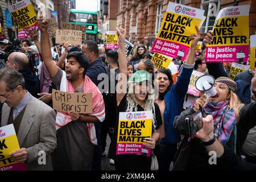
[[[121, 78], [118, 80], [119, 85], [127, 85], [127, 61], [125, 56], [125, 35], [126, 31], [123, 28], [117, 29], [118, 33], [118, 63]], [[117, 137], [118, 137], [118, 120], [119, 112], [131, 111], [152, 111], [152, 137], [146, 138], [144, 142], [144, 150], [151, 151], [155, 148], [155, 142], [159, 139], [159, 126], [162, 125], [160, 110], [158, 105], [154, 102], [154, 89], [150, 74], [146, 71], [137, 71], [131, 75], [128, 81], [128, 93], [126, 88], [123, 92], [117, 90], [117, 122], [114, 133], [114, 142], [110, 146], [113, 155], [115, 169], [117, 171], [133, 170], [133, 171], [150, 171], [151, 158], [144, 155], [116, 155]]]

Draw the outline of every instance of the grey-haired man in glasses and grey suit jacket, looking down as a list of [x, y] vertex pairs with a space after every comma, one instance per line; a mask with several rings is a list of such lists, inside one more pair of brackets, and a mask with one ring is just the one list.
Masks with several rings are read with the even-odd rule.
[[20, 150], [10, 155], [28, 170], [52, 170], [56, 148], [55, 111], [24, 88], [24, 77], [10, 68], [0, 70], [1, 126], [13, 124]]

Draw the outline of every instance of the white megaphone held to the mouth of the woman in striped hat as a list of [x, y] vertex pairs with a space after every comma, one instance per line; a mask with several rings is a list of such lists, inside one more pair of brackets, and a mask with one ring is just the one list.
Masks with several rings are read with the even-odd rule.
[[203, 75], [196, 80], [196, 89], [205, 92], [207, 98], [217, 97], [217, 90], [214, 88], [215, 79], [212, 75]]

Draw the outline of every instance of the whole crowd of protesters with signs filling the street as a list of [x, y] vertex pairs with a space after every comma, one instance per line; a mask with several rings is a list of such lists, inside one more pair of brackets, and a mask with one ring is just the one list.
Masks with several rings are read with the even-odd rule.
[[173, 6], [152, 47], [122, 27], [52, 45], [42, 16], [2, 39], [0, 169], [101, 171], [107, 155], [116, 171], [256, 170], [256, 37], [234, 36], [246, 23], [224, 13], [202, 38]]

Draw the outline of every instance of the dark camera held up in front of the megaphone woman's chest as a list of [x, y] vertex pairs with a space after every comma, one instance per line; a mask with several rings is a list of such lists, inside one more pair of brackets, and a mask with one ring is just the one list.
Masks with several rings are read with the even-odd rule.
[[203, 117], [201, 111], [189, 115], [185, 118], [187, 123], [187, 134], [189, 137], [195, 135], [203, 127]]

